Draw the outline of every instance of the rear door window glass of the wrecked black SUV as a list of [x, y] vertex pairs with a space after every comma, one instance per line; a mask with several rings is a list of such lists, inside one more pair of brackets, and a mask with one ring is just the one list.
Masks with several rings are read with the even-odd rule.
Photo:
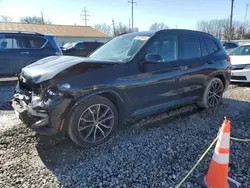
[[198, 36], [182, 36], [182, 59], [194, 59], [201, 57], [201, 46]]

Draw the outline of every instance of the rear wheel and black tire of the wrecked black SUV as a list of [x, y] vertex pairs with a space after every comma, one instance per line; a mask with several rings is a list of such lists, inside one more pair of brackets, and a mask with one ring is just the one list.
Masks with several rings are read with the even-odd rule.
[[[218, 88], [219, 88], [218, 91], [220, 91], [216, 95], [211, 94], [215, 85], [218, 86]], [[198, 102], [198, 106], [201, 108], [207, 109], [207, 108], [219, 105], [222, 101], [223, 92], [224, 92], [223, 82], [219, 78], [212, 78], [211, 80], [208, 81], [206, 88], [204, 90], [203, 96], [201, 98], [201, 101]], [[213, 95], [213, 96], [211, 96], [211, 95]], [[217, 96], [219, 96], [219, 97], [217, 97]], [[215, 98], [214, 101], [216, 101], [216, 99], [218, 99], [218, 101], [216, 101], [213, 104], [211, 102], [211, 100], [212, 100], [211, 97]]]

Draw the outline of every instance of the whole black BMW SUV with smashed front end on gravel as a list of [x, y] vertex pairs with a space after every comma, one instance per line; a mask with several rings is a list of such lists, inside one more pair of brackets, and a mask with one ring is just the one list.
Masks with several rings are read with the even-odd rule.
[[52, 56], [22, 69], [12, 106], [40, 134], [90, 147], [118, 123], [190, 103], [214, 107], [230, 59], [210, 34], [168, 29], [115, 37], [89, 57]]

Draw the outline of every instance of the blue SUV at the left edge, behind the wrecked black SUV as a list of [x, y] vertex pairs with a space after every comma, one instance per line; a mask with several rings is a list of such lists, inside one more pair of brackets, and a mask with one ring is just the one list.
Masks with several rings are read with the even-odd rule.
[[20, 73], [34, 61], [62, 55], [52, 35], [28, 32], [0, 32], [0, 75]]

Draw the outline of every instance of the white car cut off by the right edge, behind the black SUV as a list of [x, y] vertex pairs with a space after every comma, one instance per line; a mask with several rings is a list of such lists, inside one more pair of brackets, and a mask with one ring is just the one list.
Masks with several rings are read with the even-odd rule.
[[230, 54], [232, 82], [250, 82], [250, 44], [236, 48]]

